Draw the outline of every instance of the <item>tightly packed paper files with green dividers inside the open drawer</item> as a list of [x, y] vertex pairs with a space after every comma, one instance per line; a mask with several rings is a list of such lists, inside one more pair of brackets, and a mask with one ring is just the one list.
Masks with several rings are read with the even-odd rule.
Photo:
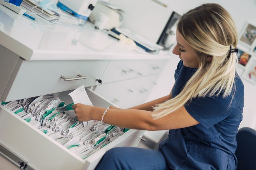
[[100, 121], [84, 127], [77, 122], [73, 104], [65, 105], [55, 95], [2, 102], [2, 105], [83, 159], [124, 133], [124, 128]]

